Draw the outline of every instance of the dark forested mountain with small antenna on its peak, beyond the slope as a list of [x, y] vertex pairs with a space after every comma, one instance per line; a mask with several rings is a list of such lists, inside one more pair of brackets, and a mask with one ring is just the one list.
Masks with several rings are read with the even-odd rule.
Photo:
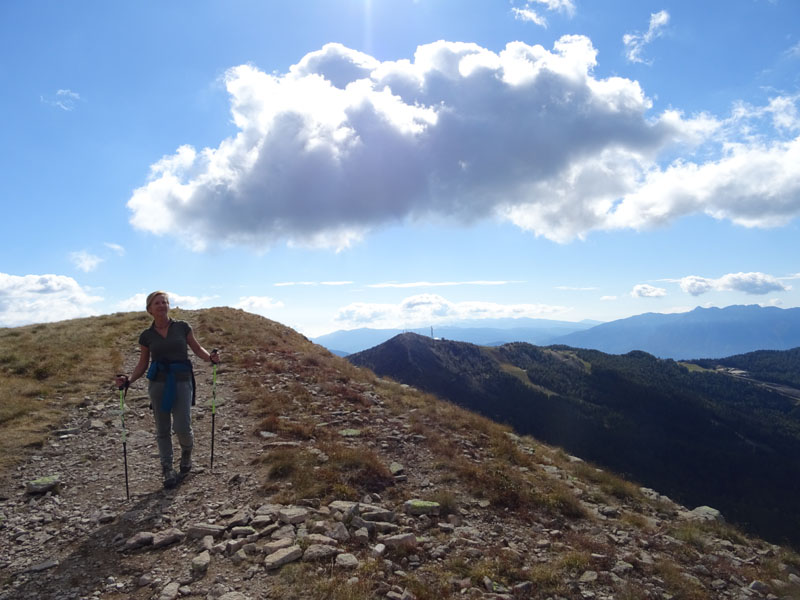
[[[733, 363], [755, 368], [745, 379], [710, 361], [709, 369], [641, 351], [403, 334], [348, 360], [798, 546], [800, 391], [784, 393], [800, 378], [797, 357], [738, 357]], [[769, 373], [780, 386], [754, 380]]]

